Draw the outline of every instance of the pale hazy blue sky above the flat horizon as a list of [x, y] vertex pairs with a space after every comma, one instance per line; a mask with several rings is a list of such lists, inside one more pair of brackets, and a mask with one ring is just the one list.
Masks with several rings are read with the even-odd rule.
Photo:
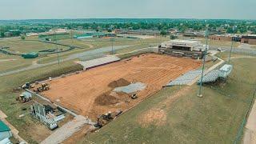
[[0, 19], [256, 19], [256, 0], [0, 0]]

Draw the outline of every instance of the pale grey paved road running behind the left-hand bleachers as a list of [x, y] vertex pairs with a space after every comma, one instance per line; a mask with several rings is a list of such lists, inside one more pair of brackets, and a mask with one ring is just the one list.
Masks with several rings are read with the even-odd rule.
[[[129, 47], [129, 46], [114, 46], [114, 50], [121, 50], [121, 49], [125, 49], [126, 47]], [[82, 58], [82, 57], [87, 57], [87, 56], [92, 56], [92, 55], [97, 55], [97, 54], [102, 54], [102, 53], [110, 52], [111, 50], [112, 50], [111, 46], [102, 47], [102, 48], [95, 49], [95, 50], [88, 50], [88, 51], [78, 53], [78, 54], [71, 54], [68, 58], [61, 59], [60, 62], [65, 62], [65, 61], [69, 61], [72, 59]], [[13, 70], [13, 71], [5, 72], [5, 73], [0, 73], [0, 77], [10, 75], [10, 74], [17, 74], [19, 72], [26, 71], [26, 70], [34, 70], [34, 69], [37, 69], [42, 66], [49, 66], [49, 65], [56, 64], [56, 63], [58, 63], [58, 61], [49, 62], [46, 64], [34, 63], [34, 65], [27, 66], [27, 67], [19, 69], [19, 70]]]

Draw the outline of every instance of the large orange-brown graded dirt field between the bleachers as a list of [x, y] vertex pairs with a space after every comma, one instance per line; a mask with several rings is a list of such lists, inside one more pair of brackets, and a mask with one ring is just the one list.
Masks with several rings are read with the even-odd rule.
[[[171, 79], [200, 65], [201, 62], [192, 59], [142, 54], [81, 74], [55, 79], [49, 82], [50, 90], [42, 94], [53, 102], [60, 102], [62, 106], [95, 120], [98, 115], [108, 111], [127, 110], [135, 106], [150, 94], [161, 90]], [[135, 100], [129, 94], [112, 91], [114, 87], [127, 86], [130, 82], [146, 84], [146, 89], [138, 92]]]

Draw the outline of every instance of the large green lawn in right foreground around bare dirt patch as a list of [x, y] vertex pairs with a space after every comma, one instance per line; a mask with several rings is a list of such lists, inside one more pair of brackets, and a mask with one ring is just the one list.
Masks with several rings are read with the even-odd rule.
[[[226, 84], [204, 86], [203, 98], [197, 97], [194, 85], [166, 105], [180, 87], [165, 88], [80, 143], [233, 143], [254, 91], [255, 62], [256, 58], [232, 60], [234, 70]], [[154, 107], [166, 112], [165, 125], [140, 125], [142, 114]]]

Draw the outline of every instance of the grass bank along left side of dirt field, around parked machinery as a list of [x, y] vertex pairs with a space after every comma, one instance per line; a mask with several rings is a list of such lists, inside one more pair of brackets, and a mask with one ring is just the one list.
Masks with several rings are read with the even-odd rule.
[[[62, 62], [58, 64], [45, 66], [36, 70], [28, 70], [18, 74], [12, 74], [0, 77], [0, 110], [8, 116], [7, 120], [19, 130], [19, 135], [29, 143], [38, 143], [38, 139], [46, 138], [51, 132], [48, 128], [42, 125], [26, 114], [23, 118], [18, 118], [18, 115], [30, 111], [29, 104], [16, 102], [15, 98], [21, 91], [14, 90], [21, 86], [24, 82], [34, 82], [39, 79], [55, 77], [72, 71], [82, 70], [82, 66], [73, 62]], [[22, 108], [26, 107], [26, 111]]]

